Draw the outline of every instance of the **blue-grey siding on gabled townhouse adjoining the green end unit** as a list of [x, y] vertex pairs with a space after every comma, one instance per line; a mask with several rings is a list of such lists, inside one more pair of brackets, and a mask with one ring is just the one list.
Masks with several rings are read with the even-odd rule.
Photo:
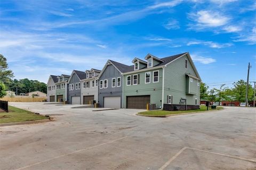
[[[113, 78], [121, 78], [121, 86], [120, 87], [112, 87], [112, 79]], [[100, 81], [108, 80], [108, 88], [100, 89]], [[117, 82], [117, 80], [116, 80]], [[104, 85], [104, 82], [103, 82]], [[101, 76], [98, 80], [98, 103], [99, 107], [103, 107], [104, 97], [120, 97], [121, 98], [121, 108], [122, 108], [122, 96], [123, 96], [123, 76], [116, 69], [113, 64], [109, 64], [106, 66], [105, 70], [101, 73]]]

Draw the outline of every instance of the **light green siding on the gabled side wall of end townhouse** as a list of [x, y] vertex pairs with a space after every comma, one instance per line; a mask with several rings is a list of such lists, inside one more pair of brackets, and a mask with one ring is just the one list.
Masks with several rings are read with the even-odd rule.
[[[185, 60], [188, 60], [187, 55], [178, 58], [177, 60], [173, 61], [164, 69], [164, 104], [167, 104], [167, 96], [173, 96], [173, 104], [180, 104], [180, 99], [185, 98], [187, 99], [187, 105], [195, 105], [195, 99], [197, 98], [197, 105], [199, 105], [200, 99], [200, 90], [199, 86], [197, 86], [197, 82], [199, 80], [193, 79], [193, 85], [195, 83], [196, 87], [196, 95], [187, 95], [186, 87], [186, 74], [191, 74], [194, 77], [196, 73], [191, 65], [190, 61], [188, 60], [188, 68], [185, 68]], [[191, 87], [190, 87], [191, 88]]]

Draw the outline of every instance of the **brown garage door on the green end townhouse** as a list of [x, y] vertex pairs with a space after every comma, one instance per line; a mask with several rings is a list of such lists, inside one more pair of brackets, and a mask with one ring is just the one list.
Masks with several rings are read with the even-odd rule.
[[147, 109], [150, 96], [127, 96], [127, 108]]

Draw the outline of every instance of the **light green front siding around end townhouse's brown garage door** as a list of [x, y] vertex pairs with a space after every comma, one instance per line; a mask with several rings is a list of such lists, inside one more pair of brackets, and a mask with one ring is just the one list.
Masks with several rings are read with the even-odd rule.
[[[158, 82], [153, 83], [153, 72], [159, 71]], [[150, 83], [145, 83], [146, 72], [150, 72]], [[138, 74], [140, 83], [137, 85], [127, 86], [127, 76]], [[127, 96], [145, 96], [150, 95], [150, 104], [156, 104], [157, 107], [162, 105], [162, 87], [163, 87], [163, 69], [154, 69], [133, 74], [124, 75], [124, 108], [126, 108]], [[137, 91], [138, 90], [138, 91]]]

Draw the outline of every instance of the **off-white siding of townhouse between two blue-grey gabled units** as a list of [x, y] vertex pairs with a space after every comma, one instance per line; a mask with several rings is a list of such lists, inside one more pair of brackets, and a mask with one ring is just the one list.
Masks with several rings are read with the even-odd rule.
[[[84, 88], [84, 82], [86, 87], [86, 81], [89, 81], [89, 88]], [[92, 87], [92, 81], [94, 81], [94, 87]], [[96, 78], [81, 81], [81, 90], [81, 104], [84, 104], [84, 96], [94, 96], [94, 100], [98, 101], [98, 86], [96, 86]]]

